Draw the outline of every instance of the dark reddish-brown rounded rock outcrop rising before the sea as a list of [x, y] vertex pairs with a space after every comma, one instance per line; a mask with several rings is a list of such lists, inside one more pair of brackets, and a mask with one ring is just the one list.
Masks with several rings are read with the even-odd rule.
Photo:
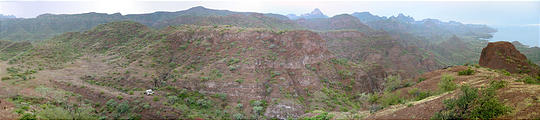
[[511, 73], [537, 73], [536, 66], [529, 64], [510, 42], [492, 42], [482, 49], [480, 65], [493, 69], [504, 69]]

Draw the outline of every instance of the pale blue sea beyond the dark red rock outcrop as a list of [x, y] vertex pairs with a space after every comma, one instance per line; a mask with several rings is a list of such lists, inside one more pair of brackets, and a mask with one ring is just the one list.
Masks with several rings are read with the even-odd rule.
[[530, 47], [540, 47], [540, 26], [539, 25], [505, 25], [492, 26], [497, 29], [493, 38], [489, 41], [519, 41], [521, 44]]

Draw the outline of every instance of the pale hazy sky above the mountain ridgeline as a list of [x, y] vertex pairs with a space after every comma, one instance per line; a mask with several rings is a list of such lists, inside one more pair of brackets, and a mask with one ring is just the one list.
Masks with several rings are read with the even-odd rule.
[[[31, 18], [44, 13], [75, 14], [85, 12], [138, 14], [155, 11], [180, 11], [194, 6], [241, 12], [302, 14], [319, 8], [328, 16], [368, 11], [379, 16], [398, 13], [416, 20], [435, 18], [463, 23], [487, 24], [496, 28], [529, 27], [532, 43], [540, 46], [540, 1], [0, 1], [0, 14]], [[518, 30], [519, 31], [519, 30]], [[530, 32], [530, 31], [529, 31]], [[519, 33], [519, 32], [518, 32]], [[536, 34], [536, 36], [534, 36]], [[497, 37], [497, 36], [496, 36]], [[531, 42], [531, 40], [528, 40]]]

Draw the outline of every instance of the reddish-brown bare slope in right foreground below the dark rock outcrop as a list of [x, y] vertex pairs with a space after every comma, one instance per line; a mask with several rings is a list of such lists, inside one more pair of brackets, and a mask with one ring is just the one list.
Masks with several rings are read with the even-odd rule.
[[[471, 69], [473, 75], [458, 75], [459, 71]], [[450, 76], [450, 77], [449, 77]], [[421, 75], [425, 79], [418, 84], [396, 90], [400, 98], [405, 99], [402, 104], [394, 105], [372, 114], [366, 114], [368, 119], [430, 119], [435, 113], [445, 109], [445, 102], [451, 98], [458, 98], [463, 93], [459, 86], [469, 85], [480, 90], [488, 89], [494, 83], [500, 82], [502, 88], [495, 90], [495, 99], [511, 108], [511, 111], [502, 115], [494, 116], [497, 119], [531, 119], [540, 117], [538, 85], [523, 83], [520, 80], [527, 76], [519, 74], [504, 75], [501, 71], [495, 71], [484, 67], [456, 66], [448, 69], [436, 70]], [[440, 83], [445, 78], [452, 78], [458, 89], [436, 94], [440, 91]], [[420, 92], [418, 92], [420, 91]], [[418, 93], [430, 92], [434, 94], [420, 100], [415, 99]], [[490, 108], [494, 109], [494, 108]], [[470, 111], [467, 111], [470, 112]]]

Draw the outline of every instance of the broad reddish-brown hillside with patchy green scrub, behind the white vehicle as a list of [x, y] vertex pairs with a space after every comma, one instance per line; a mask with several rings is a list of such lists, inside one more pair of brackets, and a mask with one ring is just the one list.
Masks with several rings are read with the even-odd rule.
[[[127, 21], [57, 36], [10, 63], [16, 71], [5, 82], [41, 81], [90, 104], [143, 101], [131, 114], [98, 110], [107, 118], [296, 118], [320, 108], [362, 109], [346, 95], [380, 90], [387, 75], [380, 67], [336, 58], [310, 31], [191, 25], [152, 30]], [[149, 88], [157, 100], [133, 94]]]

